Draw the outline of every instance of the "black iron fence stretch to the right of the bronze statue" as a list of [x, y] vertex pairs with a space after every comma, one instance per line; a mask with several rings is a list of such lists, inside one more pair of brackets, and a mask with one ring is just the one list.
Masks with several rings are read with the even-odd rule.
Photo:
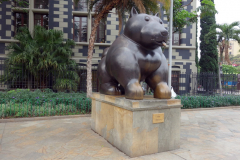
[[[222, 94], [240, 94], [237, 74], [221, 74], [220, 77]], [[219, 75], [215, 73], [173, 72], [172, 87], [178, 95], [220, 94]]]

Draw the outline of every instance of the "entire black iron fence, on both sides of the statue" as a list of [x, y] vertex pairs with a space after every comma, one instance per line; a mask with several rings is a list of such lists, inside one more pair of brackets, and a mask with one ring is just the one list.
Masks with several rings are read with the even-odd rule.
[[[41, 72], [33, 75], [24, 68], [9, 70], [5, 60], [0, 60], [0, 90], [12, 89], [45, 89], [50, 88], [58, 91], [86, 92], [87, 68], [86, 64], [78, 64], [75, 70], [79, 79], [72, 84], [69, 74], [63, 74], [61, 80], [58, 73]], [[71, 75], [70, 75], [71, 76]], [[71, 86], [72, 85], [72, 86]], [[98, 92], [97, 65], [92, 66], [93, 92]], [[221, 74], [221, 85], [223, 94], [240, 94], [238, 90], [237, 74]], [[172, 72], [172, 87], [178, 95], [216, 95], [220, 94], [218, 74], [213, 73], [181, 73]], [[239, 85], [240, 89], [240, 85]]]

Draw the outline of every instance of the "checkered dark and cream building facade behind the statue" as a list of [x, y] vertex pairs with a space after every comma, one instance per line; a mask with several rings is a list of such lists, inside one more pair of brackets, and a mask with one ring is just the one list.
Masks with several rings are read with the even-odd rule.
[[[26, 0], [29, 5], [24, 9], [19, 9], [14, 2], [4, 2], [0, 4], [0, 59], [5, 59], [8, 53], [6, 46], [14, 40], [14, 35], [21, 26], [28, 26], [30, 32], [35, 25], [41, 25], [46, 29], [57, 29], [64, 33], [65, 39], [73, 39], [76, 46], [73, 48], [73, 56], [77, 63], [86, 64], [89, 37], [91, 26], [94, 20], [94, 12], [88, 13], [85, 0], [80, 0], [78, 4], [74, 0]], [[192, 0], [183, 0], [183, 4], [188, 4]], [[15, 7], [13, 7], [15, 6]], [[191, 5], [186, 6], [188, 11], [196, 8], [196, 0]], [[168, 27], [167, 18], [162, 15], [165, 27]], [[101, 59], [101, 54], [106, 47], [118, 37], [119, 34], [118, 16], [112, 11], [101, 21], [97, 34], [93, 52], [92, 63], [97, 65]], [[176, 75], [181, 72], [197, 72], [195, 66], [196, 50], [196, 24], [186, 26], [181, 34], [173, 35], [173, 57], [172, 70]], [[168, 58], [168, 49], [164, 50]], [[181, 76], [177, 77], [178, 79]], [[186, 78], [185, 78], [186, 79]], [[192, 83], [186, 80], [178, 80], [181, 83]], [[185, 88], [182, 88], [185, 89]]]

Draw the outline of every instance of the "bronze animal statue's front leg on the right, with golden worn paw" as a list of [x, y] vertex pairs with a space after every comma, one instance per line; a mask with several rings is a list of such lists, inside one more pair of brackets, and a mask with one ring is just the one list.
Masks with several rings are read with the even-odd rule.
[[171, 89], [167, 85], [168, 68], [166, 61], [162, 61], [161, 66], [146, 78], [146, 83], [154, 90], [154, 98], [170, 99]]

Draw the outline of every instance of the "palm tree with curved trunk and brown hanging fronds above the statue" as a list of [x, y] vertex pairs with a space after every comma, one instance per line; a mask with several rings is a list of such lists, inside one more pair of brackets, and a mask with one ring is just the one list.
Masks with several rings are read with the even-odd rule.
[[[135, 7], [140, 13], [156, 13], [158, 12], [158, 1], [159, 0], [87, 0], [90, 4], [89, 12], [92, 11], [93, 6], [96, 4], [95, 13], [96, 18], [92, 27], [92, 32], [89, 39], [88, 46], [88, 60], [87, 60], [87, 97], [92, 95], [92, 54], [94, 48], [95, 34], [97, 27], [101, 19], [105, 18], [107, 14], [115, 8], [119, 13], [120, 23], [126, 11], [130, 11], [132, 7]], [[75, 3], [77, 0], [75, 0]]]

